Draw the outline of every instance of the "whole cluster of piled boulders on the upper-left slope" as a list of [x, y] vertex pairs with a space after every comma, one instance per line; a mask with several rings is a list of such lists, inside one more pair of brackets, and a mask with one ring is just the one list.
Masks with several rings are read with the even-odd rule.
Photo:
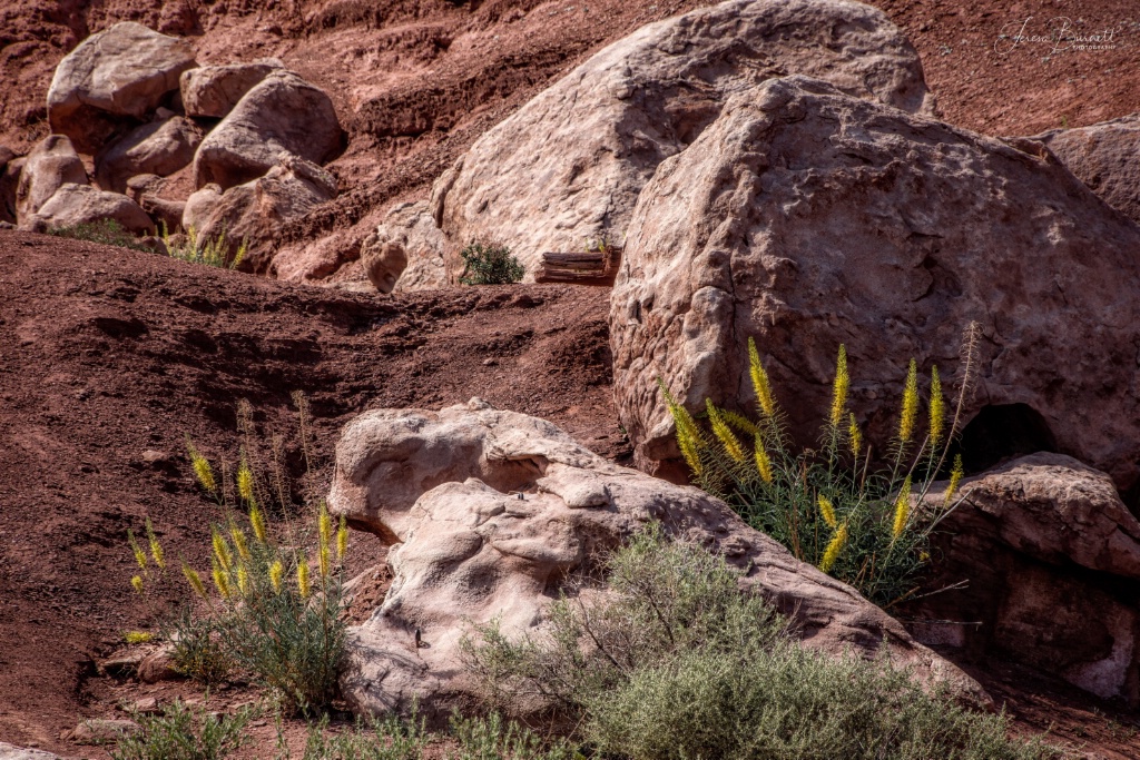
[[[337, 193], [321, 164], [344, 134], [324, 91], [277, 59], [198, 66], [186, 41], [132, 22], [59, 63], [48, 122], [51, 136], [27, 156], [0, 149], [0, 216], [23, 229], [194, 228], [245, 240], [249, 265], [264, 270], [279, 226]], [[92, 156], [93, 178], [80, 154]], [[163, 178], [184, 170], [195, 191], [164, 197]]]

